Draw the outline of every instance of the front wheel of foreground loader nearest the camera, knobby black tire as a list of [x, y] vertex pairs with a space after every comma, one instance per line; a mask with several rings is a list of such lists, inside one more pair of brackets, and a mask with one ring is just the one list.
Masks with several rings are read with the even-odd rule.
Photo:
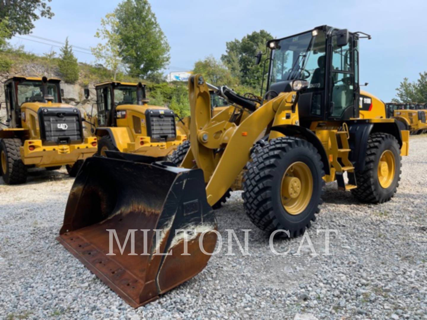
[[[246, 165], [248, 170], [243, 182], [242, 197], [246, 214], [261, 230], [269, 233], [278, 229], [289, 230], [291, 238], [301, 235], [311, 226], [311, 221], [316, 220], [315, 214], [319, 212], [319, 204], [322, 203], [322, 188], [325, 184], [322, 177], [325, 172], [320, 154], [306, 140], [280, 137], [266, 142], [263, 146], [256, 146], [251, 156], [252, 162]], [[289, 177], [288, 170], [296, 164], [307, 168], [305, 174], [300, 177], [301, 191], [295, 198], [305, 201], [305, 204], [292, 212], [292, 206], [285, 207], [285, 204], [289, 204], [294, 198], [290, 195], [290, 198], [284, 197], [282, 188]], [[311, 185], [311, 192], [310, 188], [306, 189], [307, 185]], [[278, 235], [285, 236], [285, 233]]]

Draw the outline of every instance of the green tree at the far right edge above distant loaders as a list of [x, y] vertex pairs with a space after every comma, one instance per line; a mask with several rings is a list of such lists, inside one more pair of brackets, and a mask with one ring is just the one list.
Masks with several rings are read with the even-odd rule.
[[427, 103], [427, 72], [420, 73], [420, 78], [415, 82], [404, 78], [396, 91], [397, 98], [392, 99], [393, 102]]

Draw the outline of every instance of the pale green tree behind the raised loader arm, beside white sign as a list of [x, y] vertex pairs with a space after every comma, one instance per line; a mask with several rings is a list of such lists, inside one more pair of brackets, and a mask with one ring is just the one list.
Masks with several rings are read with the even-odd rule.
[[230, 70], [221, 61], [216, 60], [213, 55], [204, 60], [196, 61], [193, 73], [201, 73], [206, 81], [214, 85], [234, 87], [238, 84], [238, 79], [231, 76]]

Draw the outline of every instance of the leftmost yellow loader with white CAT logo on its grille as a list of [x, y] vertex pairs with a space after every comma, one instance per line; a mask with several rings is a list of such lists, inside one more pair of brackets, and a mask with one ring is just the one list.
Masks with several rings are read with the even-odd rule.
[[83, 136], [79, 109], [61, 102], [60, 81], [15, 76], [5, 82], [0, 169], [7, 184], [25, 182], [29, 166], [55, 170], [65, 165], [75, 176], [97, 151], [97, 138]]

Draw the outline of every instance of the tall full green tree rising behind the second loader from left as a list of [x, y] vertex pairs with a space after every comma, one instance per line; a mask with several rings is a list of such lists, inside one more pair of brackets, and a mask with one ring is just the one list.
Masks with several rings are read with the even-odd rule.
[[147, 77], [170, 60], [169, 44], [147, 0], [124, 0], [114, 11], [120, 53], [132, 76]]

